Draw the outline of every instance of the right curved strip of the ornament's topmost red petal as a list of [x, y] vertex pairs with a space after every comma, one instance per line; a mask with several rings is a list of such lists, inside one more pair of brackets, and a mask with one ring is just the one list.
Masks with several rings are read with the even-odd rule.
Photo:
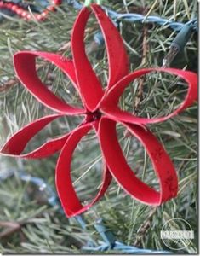
[[129, 58], [120, 33], [104, 10], [97, 4], [92, 4], [91, 8], [100, 24], [106, 42], [109, 67], [107, 88], [110, 89], [118, 80], [129, 73]]

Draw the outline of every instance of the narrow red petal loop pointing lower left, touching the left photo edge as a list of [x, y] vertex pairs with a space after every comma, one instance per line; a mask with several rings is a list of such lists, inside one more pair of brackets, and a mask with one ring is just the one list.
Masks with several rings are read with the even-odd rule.
[[47, 157], [59, 151], [66, 143], [66, 139], [69, 137], [70, 133], [62, 137], [52, 139], [49, 142], [44, 143], [41, 147], [31, 151], [30, 153], [21, 154], [32, 137], [34, 137], [46, 125], [49, 125], [50, 122], [54, 121], [54, 119], [57, 119], [61, 116], [61, 114], [52, 114], [41, 119], [37, 119], [31, 122], [31, 124], [26, 125], [9, 139], [9, 141], [1, 149], [0, 153], [19, 158], [36, 159]]

